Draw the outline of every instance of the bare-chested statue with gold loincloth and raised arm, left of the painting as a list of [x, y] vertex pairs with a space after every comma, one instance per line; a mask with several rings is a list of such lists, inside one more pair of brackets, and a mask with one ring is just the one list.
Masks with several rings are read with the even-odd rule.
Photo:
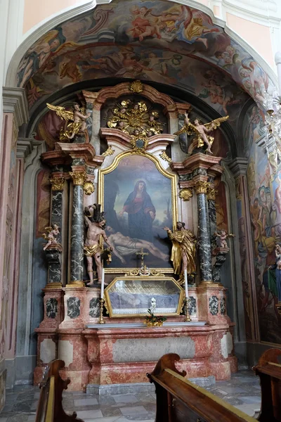
[[[93, 210], [93, 216], [91, 215], [91, 208]], [[93, 204], [89, 205], [89, 207], [85, 207], [84, 222], [87, 226], [84, 255], [86, 255], [88, 263], [87, 270], [90, 277], [90, 282], [87, 283], [87, 286], [93, 286], [93, 259], [96, 262], [99, 284], [101, 284], [102, 278], [102, 264], [100, 259], [100, 252], [103, 252], [103, 248], [100, 245], [100, 236], [103, 237], [103, 240], [110, 247], [110, 250], [113, 251], [113, 248], [110, 245], [110, 242], [108, 241], [104, 231], [106, 221], [104, 217], [104, 212], [100, 212], [100, 205]]]

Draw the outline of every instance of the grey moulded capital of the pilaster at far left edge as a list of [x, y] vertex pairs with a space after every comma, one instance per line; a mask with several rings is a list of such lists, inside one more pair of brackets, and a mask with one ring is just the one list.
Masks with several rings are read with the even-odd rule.
[[27, 122], [29, 115], [24, 88], [3, 87], [3, 112], [13, 113], [17, 127]]

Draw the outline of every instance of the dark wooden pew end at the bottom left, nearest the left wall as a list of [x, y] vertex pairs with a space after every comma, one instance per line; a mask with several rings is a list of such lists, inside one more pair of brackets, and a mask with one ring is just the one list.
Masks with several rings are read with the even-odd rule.
[[44, 371], [39, 404], [37, 408], [35, 422], [83, 422], [77, 418], [74, 411], [72, 415], [67, 415], [63, 410], [63, 390], [67, 389], [70, 379], [63, 381], [59, 371], [63, 369], [65, 362], [53, 360]]

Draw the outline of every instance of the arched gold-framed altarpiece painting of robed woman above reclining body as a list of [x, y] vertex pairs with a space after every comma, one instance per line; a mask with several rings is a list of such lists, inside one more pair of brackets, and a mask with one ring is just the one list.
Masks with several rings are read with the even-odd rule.
[[107, 271], [139, 267], [136, 254], [143, 248], [148, 267], [173, 272], [163, 227], [176, 225], [176, 175], [162, 169], [155, 156], [130, 151], [100, 170], [99, 186], [107, 236], [115, 247]]

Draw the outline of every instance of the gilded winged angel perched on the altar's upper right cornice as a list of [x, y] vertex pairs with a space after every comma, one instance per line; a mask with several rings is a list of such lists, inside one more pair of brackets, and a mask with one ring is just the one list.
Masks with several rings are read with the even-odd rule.
[[219, 126], [221, 126], [222, 122], [226, 122], [226, 120], [228, 120], [228, 117], [229, 116], [219, 117], [218, 119], [212, 120], [211, 122], [205, 124], [202, 124], [198, 119], [195, 119], [195, 121], [191, 123], [188, 118], [188, 113], [185, 113], [185, 124], [183, 125], [181, 130], [175, 132], [174, 135], [181, 135], [184, 133], [191, 135], [192, 133], [195, 133], [197, 148], [200, 148], [200, 146], [203, 146], [204, 143], [206, 143], [208, 153], [212, 154], [211, 146], [214, 142], [214, 137], [209, 136], [208, 134], [214, 129], [217, 129]]

